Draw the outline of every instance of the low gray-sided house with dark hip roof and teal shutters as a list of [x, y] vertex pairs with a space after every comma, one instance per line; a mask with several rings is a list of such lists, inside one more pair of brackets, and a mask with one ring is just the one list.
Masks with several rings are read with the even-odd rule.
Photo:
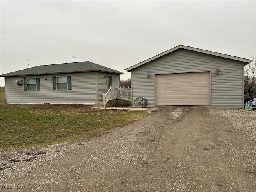
[[120, 74], [86, 61], [35, 66], [1, 77], [7, 103], [95, 104], [110, 86], [119, 87]]

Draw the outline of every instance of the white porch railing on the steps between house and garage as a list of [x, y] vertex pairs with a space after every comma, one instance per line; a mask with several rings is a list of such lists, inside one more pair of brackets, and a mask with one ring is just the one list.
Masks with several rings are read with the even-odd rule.
[[106, 104], [109, 100], [112, 99], [121, 99], [126, 101], [132, 101], [132, 89], [131, 88], [112, 88], [110, 86], [110, 89], [108, 92], [103, 93], [103, 107], [106, 107]]

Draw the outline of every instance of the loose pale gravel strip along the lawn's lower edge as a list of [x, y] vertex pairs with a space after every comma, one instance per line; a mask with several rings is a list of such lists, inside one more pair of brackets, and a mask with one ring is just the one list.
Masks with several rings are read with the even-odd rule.
[[50, 146], [2, 150], [0, 152], [0, 181], [6, 182], [12, 178], [24, 178], [29, 175], [34, 168], [42, 167], [51, 160], [58, 161], [64, 154], [69, 153], [72, 150], [75, 150], [78, 146], [86, 143], [87, 142], [68, 142]]

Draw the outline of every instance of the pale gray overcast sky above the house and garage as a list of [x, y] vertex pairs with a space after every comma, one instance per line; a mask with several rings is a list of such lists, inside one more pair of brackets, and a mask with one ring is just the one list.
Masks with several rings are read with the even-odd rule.
[[1, 74], [76, 56], [126, 79], [179, 44], [250, 59], [255, 13], [255, 1], [1, 1]]

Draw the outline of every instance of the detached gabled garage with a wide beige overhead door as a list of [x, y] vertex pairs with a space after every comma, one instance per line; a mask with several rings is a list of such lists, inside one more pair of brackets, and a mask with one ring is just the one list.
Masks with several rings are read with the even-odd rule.
[[179, 45], [126, 69], [132, 101], [152, 106], [244, 108], [244, 66], [252, 60]]

